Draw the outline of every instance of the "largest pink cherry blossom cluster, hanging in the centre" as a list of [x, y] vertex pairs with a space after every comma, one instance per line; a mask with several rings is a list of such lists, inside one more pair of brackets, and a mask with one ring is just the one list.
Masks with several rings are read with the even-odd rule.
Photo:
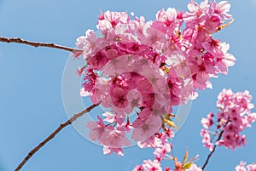
[[105, 154], [123, 155], [131, 134], [139, 146], [156, 149], [155, 161], [146, 165], [157, 165], [171, 151], [172, 107], [212, 88], [210, 77], [227, 74], [235, 64], [229, 44], [212, 37], [230, 24], [230, 3], [191, 1], [188, 9], [161, 9], [148, 21], [106, 11], [98, 17], [98, 31], [77, 39], [82, 52], [73, 56], [85, 60], [78, 71], [84, 78], [80, 94], [109, 109], [86, 124]]

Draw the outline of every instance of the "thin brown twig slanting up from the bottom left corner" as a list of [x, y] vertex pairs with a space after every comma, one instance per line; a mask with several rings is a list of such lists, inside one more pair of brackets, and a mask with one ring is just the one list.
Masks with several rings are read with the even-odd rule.
[[94, 105], [90, 105], [90, 107], [84, 109], [84, 111], [80, 111], [79, 113], [76, 113], [75, 115], [73, 115], [73, 117], [71, 117], [70, 119], [68, 119], [65, 123], [61, 123], [61, 125], [55, 129], [55, 131], [50, 134], [44, 141], [42, 141], [41, 143], [39, 143], [35, 148], [32, 149], [32, 151], [30, 151], [26, 157], [23, 159], [22, 162], [20, 162], [19, 166], [17, 168], [15, 168], [15, 171], [19, 171], [20, 168], [22, 168], [24, 166], [24, 164], [26, 164], [26, 162], [41, 148], [43, 147], [46, 143], [49, 142], [49, 140], [52, 140], [56, 134], [58, 134], [62, 128], [67, 127], [67, 125], [73, 123], [77, 118], [82, 117], [85, 113], [90, 112], [90, 110], [92, 110], [93, 108], [95, 108], [97, 105], [99, 104], [94, 104]]

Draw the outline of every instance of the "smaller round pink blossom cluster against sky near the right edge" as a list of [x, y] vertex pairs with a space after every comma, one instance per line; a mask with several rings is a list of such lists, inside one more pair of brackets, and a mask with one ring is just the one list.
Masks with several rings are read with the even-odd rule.
[[[252, 113], [252, 96], [248, 91], [237, 92], [231, 89], [224, 89], [218, 94], [217, 107], [219, 109], [217, 116], [213, 113], [202, 118], [201, 124], [204, 129], [201, 130], [202, 142], [212, 151], [213, 145], [222, 145], [229, 149], [236, 149], [241, 145], [246, 145], [246, 136], [241, 132], [251, 127], [251, 123], [256, 120], [256, 113]], [[212, 127], [217, 126], [217, 131], [212, 132]], [[212, 135], [212, 137], [211, 137]], [[213, 138], [218, 137], [215, 144]]]

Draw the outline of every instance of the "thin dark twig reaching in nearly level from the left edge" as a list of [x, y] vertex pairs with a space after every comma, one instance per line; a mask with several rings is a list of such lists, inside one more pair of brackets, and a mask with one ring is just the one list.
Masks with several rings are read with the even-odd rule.
[[67, 50], [70, 52], [80, 52], [80, 49], [76, 49], [76, 48], [69, 48], [69, 47], [65, 47], [65, 46], [61, 46], [55, 43], [37, 43], [37, 42], [32, 42], [32, 41], [27, 41], [27, 40], [23, 40], [20, 37], [14, 38], [14, 37], [0, 37], [0, 42], [3, 43], [21, 43], [21, 44], [27, 44], [33, 47], [47, 47], [47, 48], [59, 48], [62, 50]]

